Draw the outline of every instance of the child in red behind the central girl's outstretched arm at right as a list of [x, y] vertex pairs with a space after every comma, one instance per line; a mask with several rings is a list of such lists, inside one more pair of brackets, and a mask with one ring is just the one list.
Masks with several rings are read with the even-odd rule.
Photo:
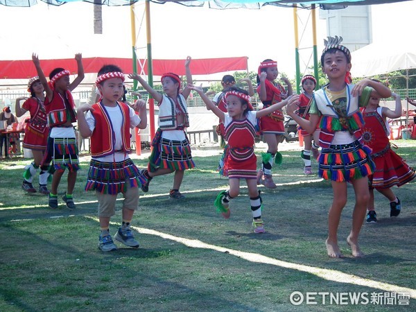
[[[257, 73], [257, 93], [263, 103], [263, 109], [292, 95], [292, 85], [287, 78], [281, 78], [288, 86], [287, 92], [282, 85], [275, 82], [279, 74], [277, 62], [270, 59], [263, 60]], [[281, 163], [281, 154], [277, 152], [277, 146], [281, 141], [281, 135], [284, 135], [283, 121], [284, 114], [281, 110], [272, 112], [260, 119], [261, 134], [263, 135], [263, 141], [267, 143], [268, 150], [267, 153], [261, 155], [263, 162], [257, 175], [257, 184], [263, 184], [268, 189], [276, 188], [272, 179], [272, 166], [275, 161], [277, 164]]]

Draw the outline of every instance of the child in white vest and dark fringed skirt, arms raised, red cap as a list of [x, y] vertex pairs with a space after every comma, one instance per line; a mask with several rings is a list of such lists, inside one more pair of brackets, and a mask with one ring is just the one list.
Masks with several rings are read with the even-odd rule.
[[[187, 83], [191, 84], [192, 75], [189, 64], [191, 64], [190, 56], [185, 62], [185, 69]], [[184, 132], [184, 128], [189, 127], [187, 98], [191, 89], [186, 87], [183, 92], [180, 92], [180, 78], [175, 73], [164, 73], [162, 76], [163, 91], [166, 95], [160, 94], [150, 87], [137, 74], [131, 73], [128, 77], [138, 80], [159, 105], [159, 128], [152, 141], [153, 150], [149, 157], [148, 169], [142, 172], [148, 180], [146, 184], [141, 185], [141, 190], [148, 191], [150, 180], [153, 177], [175, 171], [173, 188], [169, 192], [169, 198], [185, 198], [179, 191], [184, 172], [185, 169], [195, 167], [191, 146], [189, 146], [189, 140]]]

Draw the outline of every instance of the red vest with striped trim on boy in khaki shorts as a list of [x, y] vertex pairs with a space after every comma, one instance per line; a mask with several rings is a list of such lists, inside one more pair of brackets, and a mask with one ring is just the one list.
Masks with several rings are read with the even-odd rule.
[[[121, 114], [123, 115], [123, 128], [121, 131], [121, 139], [123, 141], [122, 150], [125, 154], [130, 153], [130, 112], [129, 107], [125, 103], [117, 102]], [[105, 110], [104, 105], [95, 103], [92, 105], [94, 112], [92, 115], [96, 121], [94, 132], [91, 136], [91, 155], [93, 157], [103, 157], [114, 154], [114, 144], [116, 136], [110, 116]]]

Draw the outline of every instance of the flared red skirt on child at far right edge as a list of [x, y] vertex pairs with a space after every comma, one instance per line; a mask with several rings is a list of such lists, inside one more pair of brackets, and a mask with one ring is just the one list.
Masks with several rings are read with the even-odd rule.
[[394, 185], [401, 187], [415, 179], [415, 169], [404, 162], [404, 159], [397, 155], [390, 144], [379, 153], [372, 155], [376, 168], [374, 174], [370, 175], [370, 187], [376, 189], [390, 189]]

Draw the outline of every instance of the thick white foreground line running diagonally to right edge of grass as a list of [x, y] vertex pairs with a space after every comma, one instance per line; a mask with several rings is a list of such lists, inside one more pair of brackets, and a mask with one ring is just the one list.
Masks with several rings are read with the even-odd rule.
[[159, 236], [159, 237], [162, 237], [163, 239], [170, 239], [171, 241], [177, 241], [178, 243], [182, 243], [184, 245], [187, 245], [188, 247], [205, 248], [205, 249], [216, 250], [218, 252], [227, 252], [236, 257], [240, 257], [242, 259], [245, 259], [251, 262], [271, 264], [272, 266], [280, 266], [282, 268], [289, 268], [292, 270], [298, 270], [298, 271], [302, 271], [306, 273], [311, 273], [322, 279], [327, 279], [328, 281], [337, 281], [340, 283], [349, 283], [349, 284], [360, 285], [360, 286], [365, 286], [365, 287], [370, 287], [370, 288], [376, 288], [376, 289], [380, 289], [381, 291], [386, 291], [386, 292], [409, 293], [410, 297], [412, 297], [413, 299], [416, 299], [416, 290], [412, 288], [383, 283], [381, 281], [373, 281], [371, 279], [364, 279], [363, 277], [350, 275], [350, 274], [340, 272], [337, 270], [316, 268], [313, 266], [305, 266], [300, 263], [291, 263], [291, 262], [281, 261], [278, 259], [263, 256], [262, 254], [255, 254], [253, 252], [241, 252], [239, 250], [223, 248], [223, 247], [219, 247], [216, 245], [203, 243], [202, 241], [198, 241], [198, 239], [184, 239], [183, 237], [177, 237], [171, 234], [165, 234], [162, 232], [155, 231], [153, 229], [145, 229], [143, 227], [132, 227], [132, 228], [134, 228], [140, 233]]

